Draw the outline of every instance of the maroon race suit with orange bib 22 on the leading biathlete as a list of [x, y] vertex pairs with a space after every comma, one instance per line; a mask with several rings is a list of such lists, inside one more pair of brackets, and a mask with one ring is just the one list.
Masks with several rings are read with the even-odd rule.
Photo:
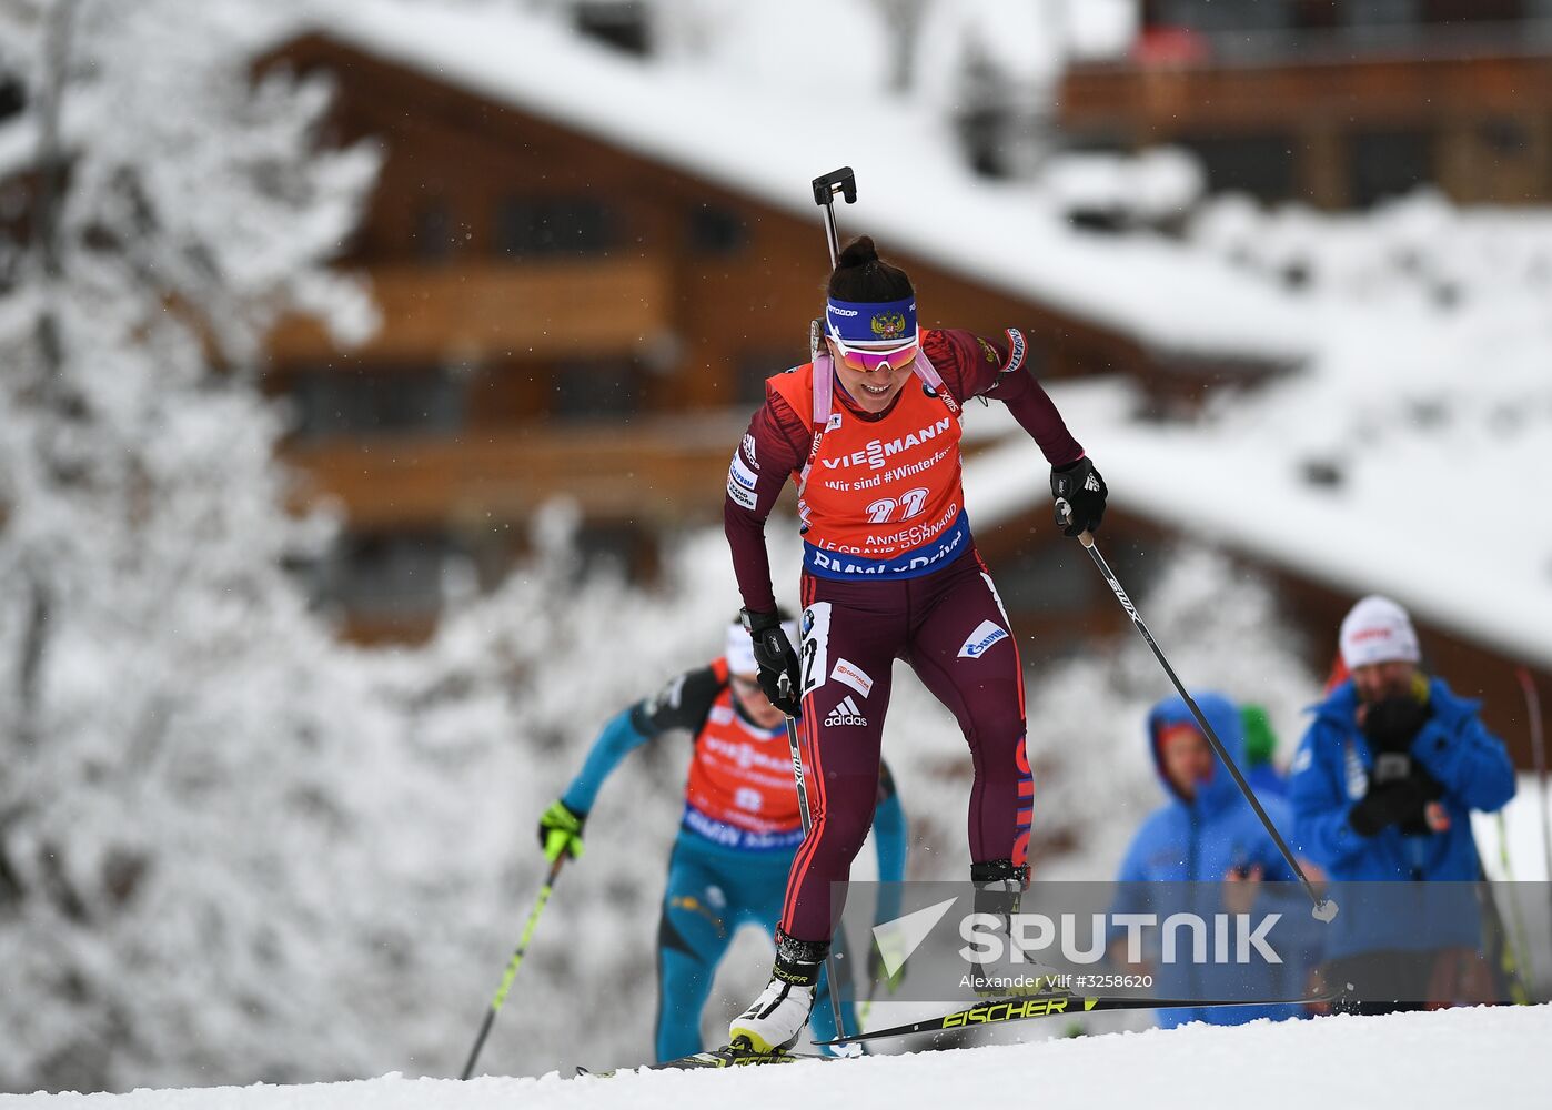
[[1001, 338], [923, 329], [927, 366], [919, 360], [889, 408], [863, 411], [837, 379], [827, 418], [830, 399], [812, 397], [813, 363], [798, 366], [767, 382], [734, 453], [723, 515], [750, 610], [776, 609], [765, 520], [787, 480], [799, 486], [801, 739], [813, 768], [813, 823], [788, 874], [788, 936], [826, 941], [840, 916], [830, 885], [847, 879], [872, 821], [896, 658], [954, 714], [970, 745], [972, 863], [1024, 865], [1034, 781], [1023, 674], [968, 531], [959, 421], [972, 397], [1001, 401], [1052, 466], [1083, 456], [1024, 366], [1026, 351], [1013, 329]]

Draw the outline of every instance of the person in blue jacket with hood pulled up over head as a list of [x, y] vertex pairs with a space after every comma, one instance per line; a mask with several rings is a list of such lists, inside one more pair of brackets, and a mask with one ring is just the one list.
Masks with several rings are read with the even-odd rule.
[[[1221, 694], [1193, 694], [1212, 731], [1235, 765], [1245, 765], [1245, 728], [1238, 708]], [[1296, 882], [1293, 869], [1277, 851], [1276, 841], [1260, 823], [1256, 810], [1240, 793], [1234, 776], [1214, 753], [1207, 737], [1183, 699], [1159, 702], [1148, 713], [1148, 750], [1153, 767], [1169, 801], [1153, 810], [1131, 838], [1116, 880], [1122, 883], [1111, 914], [1152, 911], [1159, 919], [1175, 911], [1192, 911], [1212, 921], [1220, 913], [1284, 911], [1280, 928], [1268, 936], [1284, 959], [1280, 966], [1262, 963], [1246, 967], [1238, 963], [1197, 963], [1147, 959], [1153, 973], [1153, 990], [1159, 997], [1186, 998], [1291, 998], [1305, 990], [1310, 938], [1305, 936], [1308, 911], [1301, 904], [1302, 893], [1290, 888], [1273, 894], [1262, 890], [1266, 882]], [[1266, 815], [1287, 834], [1293, 815], [1280, 798], [1260, 798]], [[1308, 871], [1310, 866], [1304, 865]], [[1318, 877], [1318, 872], [1316, 872]], [[1147, 888], [1142, 883], [1181, 883], [1181, 886]], [[1190, 883], [1212, 883], [1195, 886]], [[1287, 900], [1288, 905], [1271, 905]], [[1114, 921], [1114, 917], [1113, 917]], [[1127, 938], [1111, 933], [1111, 955], [1125, 959]], [[1150, 939], [1156, 956], [1158, 939]], [[1299, 1017], [1293, 1004], [1234, 1008], [1166, 1008], [1158, 1022], [1170, 1029], [1186, 1022], [1240, 1025], [1256, 1018], [1282, 1020]]]

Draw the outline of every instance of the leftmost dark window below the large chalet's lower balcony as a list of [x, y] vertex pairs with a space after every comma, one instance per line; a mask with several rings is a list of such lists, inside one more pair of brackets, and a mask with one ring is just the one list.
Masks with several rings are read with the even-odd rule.
[[442, 574], [461, 557], [439, 531], [348, 532], [321, 576], [321, 601], [357, 616], [425, 616], [441, 609]]

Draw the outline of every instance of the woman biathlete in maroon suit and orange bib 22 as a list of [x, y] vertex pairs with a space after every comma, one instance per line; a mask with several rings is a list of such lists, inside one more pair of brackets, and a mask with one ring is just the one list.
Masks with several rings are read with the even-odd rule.
[[[847, 879], [872, 821], [891, 664], [909, 663], [954, 714], [975, 765], [970, 877], [1017, 897], [1034, 812], [1024, 691], [1007, 613], [964, 509], [959, 421], [1001, 401], [1051, 463], [1068, 536], [1099, 526], [1105, 483], [1026, 368], [1029, 342], [919, 331], [916, 293], [871, 239], [827, 286], [826, 351], [770, 379], [728, 472], [725, 520], [760, 685], [801, 716], [812, 827], [787, 877], [770, 984], [729, 1040], [796, 1043], [813, 1006]], [[765, 519], [792, 477], [804, 539], [801, 655], [781, 629]], [[801, 708], [801, 714], [799, 714]], [[978, 907], [979, 908], [979, 907]]]

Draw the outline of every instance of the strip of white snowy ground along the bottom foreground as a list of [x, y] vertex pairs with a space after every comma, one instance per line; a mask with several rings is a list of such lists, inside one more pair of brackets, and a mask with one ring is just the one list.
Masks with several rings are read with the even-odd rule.
[[[1552, 1105], [1552, 1006], [1246, 1026], [1192, 1025], [1034, 1045], [613, 1079], [383, 1076], [312, 1087], [8, 1098], [17, 1110], [855, 1110], [1012, 1104], [1108, 1110]], [[819, 1068], [824, 1068], [821, 1073]]]

